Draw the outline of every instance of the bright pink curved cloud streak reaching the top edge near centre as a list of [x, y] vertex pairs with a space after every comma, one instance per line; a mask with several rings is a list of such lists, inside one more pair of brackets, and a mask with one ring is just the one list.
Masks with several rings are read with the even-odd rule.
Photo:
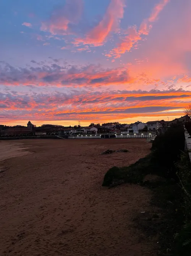
[[99, 24], [90, 30], [85, 38], [77, 38], [74, 44], [103, 45], [110, 32], [118, 30], [120, 20], [123, 18], [124, 7], [124, 0], [111, 0]]

